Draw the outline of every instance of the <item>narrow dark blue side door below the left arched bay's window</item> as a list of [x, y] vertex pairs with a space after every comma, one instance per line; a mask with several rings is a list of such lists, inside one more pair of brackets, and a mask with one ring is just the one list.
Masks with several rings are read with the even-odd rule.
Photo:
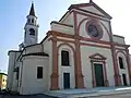
[[63, 73], [63, 87], [70, 88], [70, 73]]

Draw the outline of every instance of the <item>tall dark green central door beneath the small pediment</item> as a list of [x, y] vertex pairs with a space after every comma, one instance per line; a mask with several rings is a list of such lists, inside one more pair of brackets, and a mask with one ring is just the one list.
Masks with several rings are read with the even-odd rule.
[[103, 64], [94, 63], [96, 86], [104, 86]]

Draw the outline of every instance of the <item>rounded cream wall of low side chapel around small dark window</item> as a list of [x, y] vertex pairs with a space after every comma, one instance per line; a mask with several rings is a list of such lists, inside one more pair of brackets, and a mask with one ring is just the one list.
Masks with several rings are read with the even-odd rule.
[[[47, 57], [25, 57], [21, 94], [40, 94], [48, 89], [48, 63]], [[37, 78], [37, 66], [43, 66], [43, 78]]]

